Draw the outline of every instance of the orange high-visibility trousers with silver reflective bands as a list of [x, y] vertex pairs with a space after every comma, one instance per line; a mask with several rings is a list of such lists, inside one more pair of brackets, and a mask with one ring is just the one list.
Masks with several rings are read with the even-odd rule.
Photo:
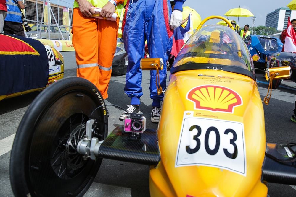
[[73, 10], [72, 43], [76, 51], [77, 76], [91, 81], [108, 98], [107, 90], [118, 37], [118, 21], [85, 17]]

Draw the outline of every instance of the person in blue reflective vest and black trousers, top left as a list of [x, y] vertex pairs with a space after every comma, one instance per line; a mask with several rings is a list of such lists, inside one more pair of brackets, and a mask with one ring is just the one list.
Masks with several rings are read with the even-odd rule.
[[20, 11], [20, 9], [25, 9], [25, 4], [22, 0], [6, 0], [6, 6], [7, 15], [4, 19], [4, 33], [26, 37], [22, 25], [22, 12]]

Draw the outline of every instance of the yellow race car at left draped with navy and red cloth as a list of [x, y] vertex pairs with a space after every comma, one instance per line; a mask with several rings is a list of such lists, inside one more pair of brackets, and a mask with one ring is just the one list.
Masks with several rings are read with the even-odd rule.
[[63, 56], [50, 45], [8, 34], [0, 39], [0, 100], [43, 90], [63, 78]]

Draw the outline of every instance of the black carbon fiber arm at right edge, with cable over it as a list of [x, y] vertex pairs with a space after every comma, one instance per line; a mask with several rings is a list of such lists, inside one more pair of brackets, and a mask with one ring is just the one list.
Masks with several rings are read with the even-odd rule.
[[[288, 157], [285, 147], [287, 145], [268, 143], [267, 153], [282, 160], [292, 159]], [[296, 162], [283, 164], [265, 156], [262, 179], [269, 183], [296, 185]]]

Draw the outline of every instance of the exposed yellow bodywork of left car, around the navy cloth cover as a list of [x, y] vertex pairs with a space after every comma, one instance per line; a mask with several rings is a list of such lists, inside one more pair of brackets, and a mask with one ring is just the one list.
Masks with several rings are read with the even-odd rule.
[[[44, 46], [50, 46], [50, 45], [48, 45], [46, 43], [42, 43], [42, 44]], [[52, 51], [54, 52], [54, 55], [55, 55], [56, 59], [61, 60], [63, 64], [59, 65], [59, 66], [61, 66], [61, 71], [60, 72], [49, 75], [48, 83], [47, 83], [46, 87], [48, 87], [53, 82], [64, 78], [64, 59], [63, 59], [63, 56], [61, 55], [61, 53], [59, 53], [59, 51], [57, 51], [53, 47], [51, 47], [51, 48], [52, 48]], [[36, 89], [29, 89], [29, 90], [26, 90], [26, 91], [23, 91], [23, 92], [16, 92], [16, 93], [9, 94], [9, 95], [0, 95], [0, 100], [7, 99], [7, 98], [12, 98], [12, 97], [16, 97], [16, 96], [20, 96], [20, 95], [24, 95], [24, 94], [28, 94], [30, 92], [41, 91], [41, 90], [45, 89], [46, 87], [36, 88]]]

